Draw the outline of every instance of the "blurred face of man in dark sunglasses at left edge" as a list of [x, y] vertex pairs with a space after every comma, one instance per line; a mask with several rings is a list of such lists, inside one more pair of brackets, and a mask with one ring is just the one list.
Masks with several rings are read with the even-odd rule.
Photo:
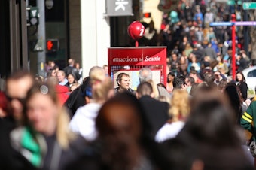
[[7, 82], [6, 94], [15, 120], [20, 120], [22, 117], [23, 102], [26, 99], [26, 93], [32, 87], [32, 83], [32, 77], [29, 76]]

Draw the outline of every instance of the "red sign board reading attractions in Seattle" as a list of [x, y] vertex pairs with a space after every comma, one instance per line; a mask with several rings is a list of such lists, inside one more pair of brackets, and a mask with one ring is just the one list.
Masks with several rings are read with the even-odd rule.
[[109, 74], [126, 68], [138, 71], [145, 66], [160, 70], [161, 80], [156, 83], [166, 84], [166, 47], [111, 47], [108, 66]]

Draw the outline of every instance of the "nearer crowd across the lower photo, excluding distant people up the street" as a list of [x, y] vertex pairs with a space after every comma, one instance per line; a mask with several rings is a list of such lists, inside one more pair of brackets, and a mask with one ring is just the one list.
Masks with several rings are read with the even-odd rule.
[[94, 66], [71, 90], [81, 79], [72, 63], [44, 80], [26, 71], [8, 77], [1, 169], [254, 169], [255, 102], [236, 83], [171, 72], [166, 88], [145, 67], [136, 90], [125, 72], [114, 88], [106, 69]]

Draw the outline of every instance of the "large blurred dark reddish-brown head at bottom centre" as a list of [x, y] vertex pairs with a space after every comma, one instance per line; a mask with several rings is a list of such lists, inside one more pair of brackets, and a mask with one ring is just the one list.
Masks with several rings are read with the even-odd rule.
[[126, 93], [115, 96], [105, 102], [96, 118], [99, 137], [139, 140], [142, 135], [141, 113], [136, 97]]

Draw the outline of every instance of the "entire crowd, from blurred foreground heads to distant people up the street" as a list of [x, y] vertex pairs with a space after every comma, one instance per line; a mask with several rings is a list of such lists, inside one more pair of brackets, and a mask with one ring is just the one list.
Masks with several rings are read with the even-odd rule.
[[145, 67], [136, 90], [125, 71], [114, 87], [108, 65], [83, 78], [74, 59], [48, 62], [45, 77], [11, 74], [0, 93], [0, 169], [254, 169], [256, 97], [242, 74], [251, 62], [236, 38], [230, 79], [230, 28], [209, 26], [230, 13], [215, 0], [181, 0], [159, 35], [149, 24], [139, 43], [167, 47], [166, 84]]

